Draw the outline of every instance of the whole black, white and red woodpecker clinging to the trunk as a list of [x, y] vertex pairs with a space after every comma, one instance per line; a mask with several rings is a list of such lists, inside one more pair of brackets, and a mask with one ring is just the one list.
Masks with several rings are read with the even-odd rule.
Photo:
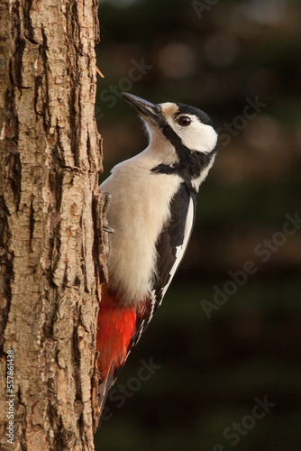
[[100, 410], [132, 347], [149, 325], [187, 249], [196, 195], [214, 163], [217, 133], [194, 106], [152, 104], [122, 93], [141, 116], [147, 148], [117, 164], [100, 189], [111, 194], [109, 282], [99, 304], [96, 345]]

